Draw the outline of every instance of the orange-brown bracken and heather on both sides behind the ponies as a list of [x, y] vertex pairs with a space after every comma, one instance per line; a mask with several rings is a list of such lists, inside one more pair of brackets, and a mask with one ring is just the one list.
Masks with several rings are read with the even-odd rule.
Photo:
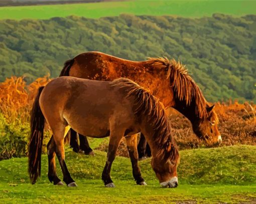
[[[49, 76], [45, 76], [26, 85], [22, 77], [12, 77], [0, 83], [0, 114], [4, 116], [5, 121], [14, 125], [28, 123], [37, 89], [49, 81]], [[248, 102], [239, 104], [230, 101], [215, 104], [215, 110], [219, 117], [218, 127], [223, 139], [222, 145], [256, 144], [255, 109], [256, 105]], [[169, 119], [172, 125], [172, 134], [180, 149], [204, 146], [204, 143], [194, 135], [190, 122], [183, 115], [171, 108], [169, 109]], [[0, 125], [0, 128], [4, 128], [3, 125]], [[28, 132], [26, 129], [24, 134]], [[2, 133], [0, 136], [4, 135], [8, 134]], [[125, 145], [121, 144], [119, 154], [126, 155], [125, 151]]]

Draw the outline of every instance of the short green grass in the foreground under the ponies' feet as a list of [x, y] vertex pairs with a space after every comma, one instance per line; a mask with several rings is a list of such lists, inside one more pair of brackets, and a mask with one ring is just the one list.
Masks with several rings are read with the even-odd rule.
[[174, 189], [160, 187], [150, 159], [140, 162], [147, 186], [136, 185], [130, 160], [117, 157], [111, 171], [116, 187], [105, 188], [100, 175], [106, 154], [96, 151], [95, 157], [89, 157], [67, 150], [67, 166], [78, 184], [68, 188], [48, 181], [46, 155], [42, 160], [42, 177], [35, 185], [29, 184], [27, 158], [12, 158], [0, 161], [0, 202], [253, 203], [255, 151], [256, 146], [245, 145], [180, 151], [179, 186]]

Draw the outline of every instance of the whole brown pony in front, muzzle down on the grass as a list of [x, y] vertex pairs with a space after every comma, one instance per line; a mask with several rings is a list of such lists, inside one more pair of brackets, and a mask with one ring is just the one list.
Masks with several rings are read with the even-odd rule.
[[[118, 100], [116, 100], [118, 99]], [[77, 186], [65, 163], [64, 135], [67, 126], [94, 138], [109, 136], [107, 161], [102, 172], [105, 186], [114, 187], [110, 168], [117, 147], [125, 137], [137, 184], [146, 185], [138, 165], [137, 133], [143, 132], [152, 149], [152, 167], [160, 184], [177, 187], [179, 153], [171, 137], [164, 106], [135, 82], [120, 78], [103, 82], [60, 77], [40, 87], [31, 113], [29, 174], [35, 183], [41, 172], [45, 120], [53, 137], [47, 145], [48, 178], [63, 185], [56, 174], [55, 153], [68, 186]]]

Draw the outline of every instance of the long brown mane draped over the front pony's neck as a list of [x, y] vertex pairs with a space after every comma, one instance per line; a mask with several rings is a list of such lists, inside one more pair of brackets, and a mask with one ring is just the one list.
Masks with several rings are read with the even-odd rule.
[[[127, 94], [126, 97], [133, 97], [135, 100], [133, 108], [137, 117], [147, 118], [148, 122], [153, 126], [153, 139], [155, 143], [158, 144], [159, 149], [157, 157], [168, 157], [171, 161], [176, 163], [179, 158], [178, 148], [175, 140], [171, 136], [171, 128], [164, 105], [158, 98], [151, 95], [148, 90], [130, 79], [115, 79], [111, 84], [124, 90], [125, 94]], [[171, 152], [166, 155], [166, 150], [170, 145]]]

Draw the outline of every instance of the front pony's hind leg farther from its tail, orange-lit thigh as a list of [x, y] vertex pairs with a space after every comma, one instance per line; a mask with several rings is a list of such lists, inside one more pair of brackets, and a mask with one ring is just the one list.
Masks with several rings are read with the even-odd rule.
[[63, 173], [63, 180], [64, 182], [70, 187], [70, 186], [77, 186], [75, 181], [70, 176], [70, 173], [68, 171], [66, 162], [65, 162], [65, 151], [64, 151], [64, 134], [65, 134], [65, 126], [64, 124], [58, 124], [56, 125], [56, 129], [52, 128], [53, 131], [53, 137], [56, 144], [56, 155], [58, 157], [58, 160], [60, 162], [60, 167]]

